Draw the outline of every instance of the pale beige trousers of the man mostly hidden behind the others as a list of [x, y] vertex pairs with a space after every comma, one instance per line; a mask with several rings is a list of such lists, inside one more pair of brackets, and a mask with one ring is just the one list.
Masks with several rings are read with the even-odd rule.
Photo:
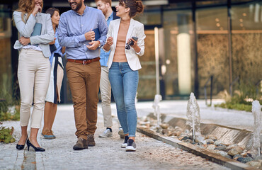
[[108, 67], [101, 66], [100, 92], [102, 99], [103, 123], [105, 127], [113, 126], [111, 115], [111, 85], [108, 79]]

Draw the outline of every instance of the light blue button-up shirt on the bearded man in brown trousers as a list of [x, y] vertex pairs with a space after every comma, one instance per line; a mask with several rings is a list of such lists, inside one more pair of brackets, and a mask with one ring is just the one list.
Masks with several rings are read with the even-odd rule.
[[98, 40], [103, 46], [106, 42], [108, 26], [101, 10], [86, 6], [83, 15], [73, 10], [62, 13], [57, 31], [58, 42], [59, 45], [66, 47], [68, 59], [84, 60], [100, 56], [100, 48], [89, 50], [86, 47], [91, 40], [86, 40], [84, 36], [84, 33], [96, 28], [101, 35]]

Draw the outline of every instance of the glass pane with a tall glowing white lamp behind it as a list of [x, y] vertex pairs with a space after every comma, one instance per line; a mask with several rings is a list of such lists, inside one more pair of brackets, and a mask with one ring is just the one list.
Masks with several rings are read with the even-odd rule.
[[159, 30], [161, 94], [166, 99], [188, 96], [193, 89], [192, 12], [168, 7], [163, 15], [163, 29]]

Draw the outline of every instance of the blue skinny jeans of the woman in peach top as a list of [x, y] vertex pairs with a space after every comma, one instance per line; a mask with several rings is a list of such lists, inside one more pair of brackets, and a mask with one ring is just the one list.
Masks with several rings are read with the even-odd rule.
[[108, 73], [115, 98], [118, 120], [125, 134], [135, 137], [137, 110], [135, 96], [138, 86], [138, 71], [132, 71], [127, 62], [113, 62]]

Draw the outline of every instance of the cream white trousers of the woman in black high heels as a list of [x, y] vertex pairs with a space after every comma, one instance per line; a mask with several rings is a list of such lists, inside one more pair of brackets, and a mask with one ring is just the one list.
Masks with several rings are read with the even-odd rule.
[[[18, 61], [18, 82], [21, 95], [20, 125], [40, 128], [45, 96], [50, 79], [50, 61], [41, 51], [22, 49]], [[30, 107], [33, 113], [30, 115]]]

